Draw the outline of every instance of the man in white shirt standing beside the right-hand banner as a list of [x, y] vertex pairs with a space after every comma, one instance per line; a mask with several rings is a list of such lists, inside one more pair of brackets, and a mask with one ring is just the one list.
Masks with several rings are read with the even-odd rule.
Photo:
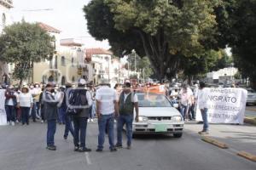
[[207, 118], [207, 96], [205, 94], [206, 84], [204, 82], [200, 82], [199, 91], [198, 91], [198, 107], [201, 111], [201, 117], [203, 120], [203, 130], [199, 132], [200, 134], [208, 134], [209, 133], [209, 124]]

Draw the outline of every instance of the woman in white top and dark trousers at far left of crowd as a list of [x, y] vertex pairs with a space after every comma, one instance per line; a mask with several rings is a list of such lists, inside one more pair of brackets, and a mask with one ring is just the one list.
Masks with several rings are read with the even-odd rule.
[[18, 108], [21, 110], [21, 120], [22, 125], [26, 124], [29, 125], [28, 117], [29, 111], [33, 105], [32, 94], [29, 93], [29, 88], [27, 86], [23, 86], [21, 88], [21, 93], [17, 99]]

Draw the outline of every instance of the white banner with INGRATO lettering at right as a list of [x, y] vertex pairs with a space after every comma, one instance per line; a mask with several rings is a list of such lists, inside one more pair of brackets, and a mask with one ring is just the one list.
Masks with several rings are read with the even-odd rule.
[[[243, 124], [247, 90], [243, 88], [205, 88], [204, 95], [207, 97], [208, 122]], [[198, 107], [196, 121], [202, 121], [201, 111]]]

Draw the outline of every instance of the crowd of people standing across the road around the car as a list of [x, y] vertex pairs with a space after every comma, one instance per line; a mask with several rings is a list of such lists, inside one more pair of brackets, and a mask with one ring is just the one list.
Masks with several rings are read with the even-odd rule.
[[[184, 121], [195, 119], [195, 105], [199, 105], [203, 119], [201, 134], [208, 133], [207, 106], [200, 93], [205, 87], [203, 82], [195, 85], [192, 90], [183, 84], [182, 88], [174, 87], [168, 96], [172, 103], [179, 104], [179, 110]], [[125, 82], [123, 86], [116, 84], [110, 88], [108, 81], [95, 88], [86, 84], [84, 79], [79, 79], [77, 86], [67, 83], [59, 86], [49, 82], [45, 86], [39, 83], [23, 83], [20, 88], [10, 85], [5, 91], [5, 110], [7, 122], [29, 125], [30, 118], [33, 122], [47, 122], [47, 149], [56, 150], [55, 132], [56, 123], [64, 124], [63, 139], [67, 139], [70, 132], [73, 136], [74, 151], [91, 151], [85, 144], [88, 122], [98, 122], [97, 150], [103, 150], [105, 134], [108, 133], [109, 150], [116, 151], [122, 145], [122, 130], [126, 127], [127, 149], [131, 149], [132, 122], [138, 122], [138, 86], [132, 89], [131, 83]], [[134, 113], [135, 112], [135, 113]], [[134, 116], [136, 114], [136, 116]], [[135, 119], [134, 119], [135, 117]], [[114, 144], [114, 122], [117, 122], [117, 143]], [[72, 123], [73, 122], [73, 123]]]

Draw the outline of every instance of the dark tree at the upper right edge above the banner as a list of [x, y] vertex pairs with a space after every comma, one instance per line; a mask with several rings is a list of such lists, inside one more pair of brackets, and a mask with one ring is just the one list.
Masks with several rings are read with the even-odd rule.
[[256, 87], [256, 1], [227, 0], [216, 8], [218, 39], [232, 48], [235, 66]]

